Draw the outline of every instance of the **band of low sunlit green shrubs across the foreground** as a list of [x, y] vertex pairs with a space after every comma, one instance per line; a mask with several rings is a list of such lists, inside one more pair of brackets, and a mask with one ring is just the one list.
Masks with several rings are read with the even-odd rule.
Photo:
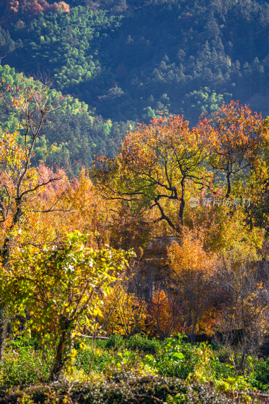
[[[80, 338], [76, 340], [76, 354], [65, 373], [72, 381], [88, 383], [97, 377], [98, 380], [107, 378], [117, 383], [124, 380], [129, 383], [128, 380], [151, 374], [188, 382], [197, 380], [204, 385], [211, 382], [216, 390], [226, 393], [246, 389], [269, 390], [269, 358], [253, 358], [252, 369], [244, 377], [238, 377], [224, 357], [222, 347], [211, 349], [210, 345], [203, 343], [193, 346], [177, 338], [159, 342], [142, 335], [129, 340], [113, 335], [105, 341], [97, 340], [93, 345], [88, 339], [84, 343], [81, 341]], [[0, 366], [0, 385], [34, 384], [48, 379], [49, 369], [41, 358], [43, 349], [37, 338], [20, 336], [9, 340]], [[47, 361], [52, 361], [53, 355], [53, 349], [47, 352]], [[171, 403], [182, 399], [181, 393], [175, 397], [167, 396], [167, 402]]]

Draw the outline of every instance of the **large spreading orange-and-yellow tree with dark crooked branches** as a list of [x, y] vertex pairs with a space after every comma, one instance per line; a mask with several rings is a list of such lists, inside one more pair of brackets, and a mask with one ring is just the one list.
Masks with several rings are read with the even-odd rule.
[[[183, 116], [169, 115], [138, 125], [130, 132], [114, 160], [96, 157], [92, 176], [106, 199], [118, 199], [137, 210], [156, 211], [154, 223], [166, 221], [174, 230], [183, 224], [186, 193], [190, 185], [210, 184], [206, 168], [210, 131], [206, 121], [190, 129]], [[172, 219], [167, 204], [178, 204]]]

